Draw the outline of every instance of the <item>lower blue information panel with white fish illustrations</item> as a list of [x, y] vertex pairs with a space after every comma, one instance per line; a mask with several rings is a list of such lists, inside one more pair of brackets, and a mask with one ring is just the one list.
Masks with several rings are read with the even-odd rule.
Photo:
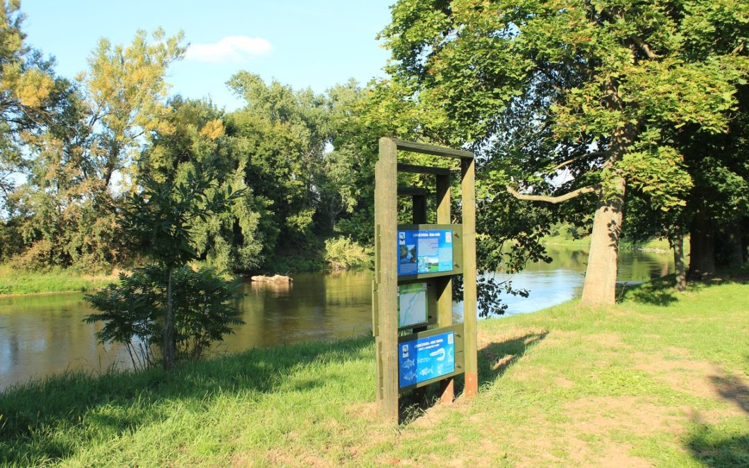
[[398, 388], [455, 371], [455, 332], [398, 344]]

